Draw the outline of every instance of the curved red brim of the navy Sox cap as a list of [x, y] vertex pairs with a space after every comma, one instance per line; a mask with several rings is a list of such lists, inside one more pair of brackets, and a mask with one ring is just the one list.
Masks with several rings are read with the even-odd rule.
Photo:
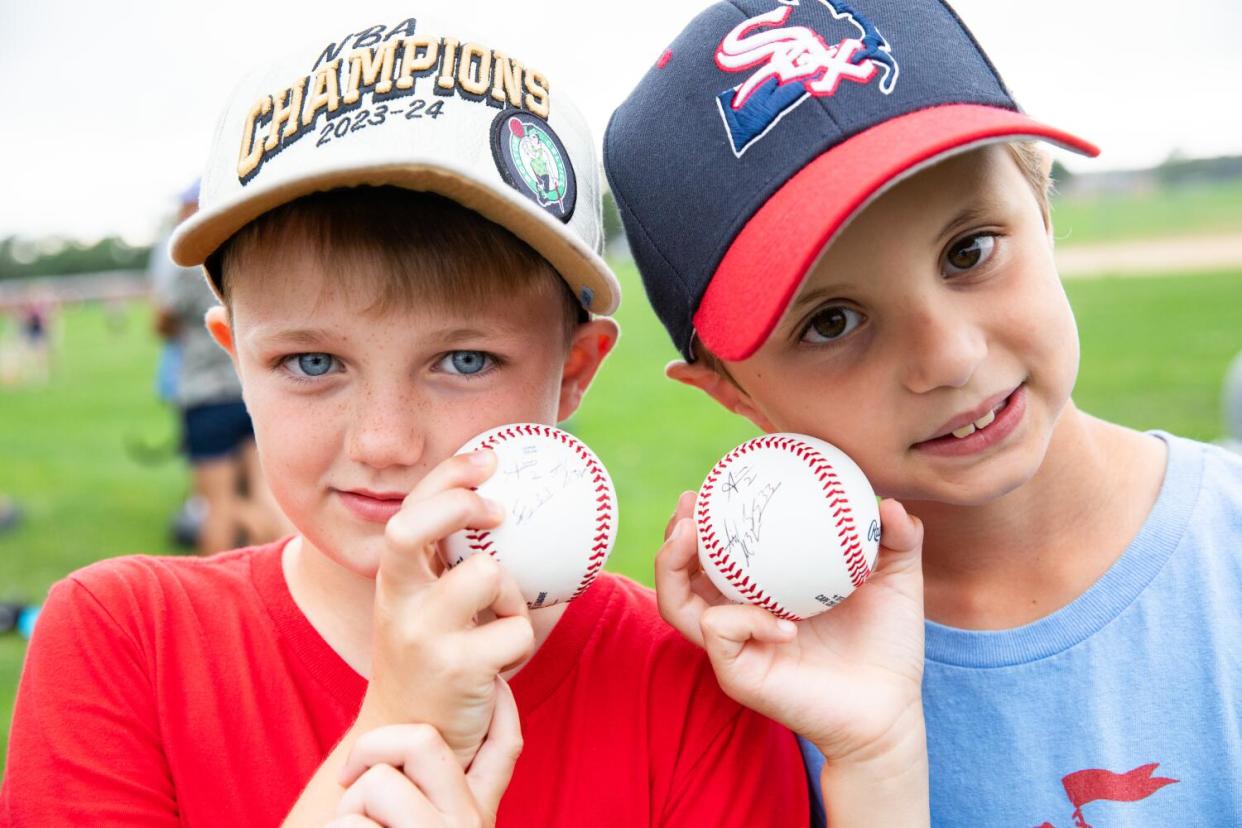
[[699, 339], [720, 359], [751, 356], [854, 212], [941, 156], [1021, 138], [1099, 154], [1094, 144], [1018, 112], [979, 104], [920, 109], [837, 144], [774, 192], [733, 240], [694, 313]]

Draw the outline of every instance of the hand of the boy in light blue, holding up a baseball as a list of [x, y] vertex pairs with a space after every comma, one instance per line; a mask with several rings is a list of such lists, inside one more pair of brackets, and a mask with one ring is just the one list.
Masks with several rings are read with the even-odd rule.
[[661, 614], [704, 647], [720, 686], [812, 741], [830, 767], [923, 757], [923, 525], [881, 504], [877, 569], [845, 602], [797, 624], [734, 605], [699, 569], [694, 493], [656, 557]]

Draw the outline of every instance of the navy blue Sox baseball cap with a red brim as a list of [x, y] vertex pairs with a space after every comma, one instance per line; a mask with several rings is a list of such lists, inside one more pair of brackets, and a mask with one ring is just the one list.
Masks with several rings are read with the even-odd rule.
[[1099, 153], [1025, 115], [940, 0], [729, 0], [614, 113], [604, 165], [677, 349], [737, 361], [877, 195], [1015, 139]]

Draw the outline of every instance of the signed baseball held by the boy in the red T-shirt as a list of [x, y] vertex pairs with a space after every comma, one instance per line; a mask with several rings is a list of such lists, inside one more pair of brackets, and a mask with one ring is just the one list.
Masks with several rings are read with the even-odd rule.
[[446, 538], [447, 564], [492, 555], [532, 610], [576, 598], [604, 569], [616, 540], [616, 492], [604, 464], [573, 434], [538, 423], [493, 428], [457, 453], [477, 448], [496, 452], [496, 473], [478, 493], [504, 506], [504, 520], [496, 529]]

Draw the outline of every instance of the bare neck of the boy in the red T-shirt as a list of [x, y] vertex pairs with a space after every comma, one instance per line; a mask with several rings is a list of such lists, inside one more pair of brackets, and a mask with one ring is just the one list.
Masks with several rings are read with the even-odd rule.
[[[289, 593], [302, 614], [342, 660], [369, 679], [375, 636], [375, 580], [340, 566], [303, 535], [286, 544], [281, 565]], [[424, 588], [431, 586], [427, 583]], [[556, 605], [530, 612], [535, 650], [551, 634], [565, 607]], [[493, 617], [483, 612], [478, 621], [486, 623]], [[528, 660], [507, 670], [503, 678], [510, 679]]]

